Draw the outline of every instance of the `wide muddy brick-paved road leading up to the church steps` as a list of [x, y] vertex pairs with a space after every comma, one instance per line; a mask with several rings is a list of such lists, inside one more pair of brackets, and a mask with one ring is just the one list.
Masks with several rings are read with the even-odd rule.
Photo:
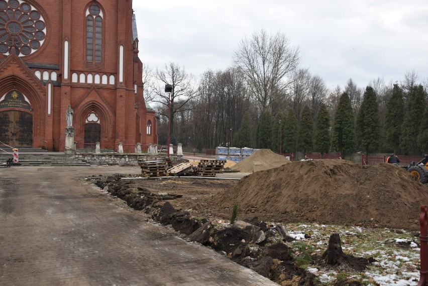
[[75, 179], [139, 171], [0, 169], [0, 285], [277, 285]]

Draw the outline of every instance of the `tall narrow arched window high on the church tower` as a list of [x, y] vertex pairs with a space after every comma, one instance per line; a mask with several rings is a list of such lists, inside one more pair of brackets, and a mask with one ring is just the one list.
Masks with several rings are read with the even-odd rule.
[[86, 11], [86, 61], [101, 62], [102, 11], [95, 4]]

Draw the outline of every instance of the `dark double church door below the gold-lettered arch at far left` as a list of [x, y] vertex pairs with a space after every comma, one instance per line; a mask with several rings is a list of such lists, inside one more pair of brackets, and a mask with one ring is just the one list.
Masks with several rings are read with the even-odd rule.
[[0, 112], [0, 141], [12, 147], [33, 147], [33, 115], [23, 111]]

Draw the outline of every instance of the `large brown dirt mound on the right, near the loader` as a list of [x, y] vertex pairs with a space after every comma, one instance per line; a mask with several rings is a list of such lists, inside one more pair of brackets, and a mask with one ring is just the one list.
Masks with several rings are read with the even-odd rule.
[[256, 172], [213, 198], [213, 204], [275, 222], [318, 222], [418, 230], [428, 189], [392, 164], [347, 160], [293, 162]]

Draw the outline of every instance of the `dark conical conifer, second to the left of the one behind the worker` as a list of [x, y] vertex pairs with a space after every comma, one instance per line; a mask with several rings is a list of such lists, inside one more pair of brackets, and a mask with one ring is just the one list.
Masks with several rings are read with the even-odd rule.
[[342, 93], [333, 123], [332, 149], [342, 153], [342, 158], [346, 153], [355, 150], [354, 138], [354, 112], [352, 111], [351, 100], [348, 93]]

